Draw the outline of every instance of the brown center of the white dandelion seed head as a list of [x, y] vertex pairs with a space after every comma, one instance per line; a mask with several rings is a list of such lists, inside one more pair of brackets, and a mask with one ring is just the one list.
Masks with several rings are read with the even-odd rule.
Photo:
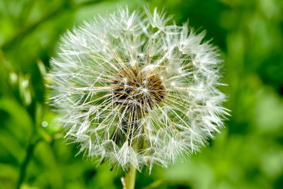
[[139, 67], [121, 69], [112, 81], [115, 103], [145, 112], [163, 100], [165, 89], [155, 71], [141, 71]]

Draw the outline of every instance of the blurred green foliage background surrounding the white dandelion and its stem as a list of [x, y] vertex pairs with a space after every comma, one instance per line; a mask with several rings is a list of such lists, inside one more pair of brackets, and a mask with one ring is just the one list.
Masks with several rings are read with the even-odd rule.
[[42, 76], [67, 29], [125, 5], [164, 8], [207, 30], [231, 110], [200, 153], [144, 169], [137, 188], [283, 188], [282, 0], [0, 0], [0, 188], [122, 188], [122, 171], [64, 143]]

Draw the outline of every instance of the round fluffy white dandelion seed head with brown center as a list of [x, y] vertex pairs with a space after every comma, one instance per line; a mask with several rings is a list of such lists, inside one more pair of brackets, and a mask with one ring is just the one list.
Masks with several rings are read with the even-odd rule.
[[223, 127], [216, 47], [170, 19], [121, 8], [64, 35], [51, 100], [87, 156], [126, 171], [167, 167]]

